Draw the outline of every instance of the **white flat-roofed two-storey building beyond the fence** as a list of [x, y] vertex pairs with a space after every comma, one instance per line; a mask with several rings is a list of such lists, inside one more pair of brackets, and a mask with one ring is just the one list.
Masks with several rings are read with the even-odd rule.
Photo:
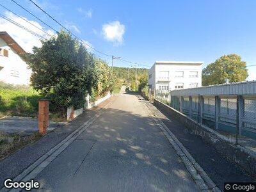
[[156, 61], [148, 71], [148, 86], [156, 90], [202, 86], [202, 64], [192, 61]]

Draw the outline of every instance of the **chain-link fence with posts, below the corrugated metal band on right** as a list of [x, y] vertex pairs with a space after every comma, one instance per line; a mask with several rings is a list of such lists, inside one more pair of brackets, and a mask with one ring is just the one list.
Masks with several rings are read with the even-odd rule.
[[256, 139], [256, 97], [177, 96], [156, 90], [156, 99], [207, 127]]

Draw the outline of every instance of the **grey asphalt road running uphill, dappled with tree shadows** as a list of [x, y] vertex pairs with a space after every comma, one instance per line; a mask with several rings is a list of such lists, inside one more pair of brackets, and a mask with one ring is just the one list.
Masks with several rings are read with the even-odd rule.
[[42, 191], [199, 191], [136, 95], [115, 96], [35, 180]]

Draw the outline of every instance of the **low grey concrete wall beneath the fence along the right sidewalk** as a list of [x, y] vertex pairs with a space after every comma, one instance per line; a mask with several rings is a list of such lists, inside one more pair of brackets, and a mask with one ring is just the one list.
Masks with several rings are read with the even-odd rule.
[[155, 99], [154, 104], [158, 109], [166, 111], [170, 116], [179, 120], [179, 122], [188, 129], [192, 129], [194, 132], [200, 132], [198, 136], [206, 143], [209, 143], [216, 148], [216, 150], [223, 154], [229, 161], [241, 166], [248, 173], [256, 175], [255, 152], [241, 145], [235, 145], [236, 140], [234, 138], [227, 138], [209, 127], [198, 124], [195, 120], [192, 120], [170, 106], [163, 104], [159, 100]]

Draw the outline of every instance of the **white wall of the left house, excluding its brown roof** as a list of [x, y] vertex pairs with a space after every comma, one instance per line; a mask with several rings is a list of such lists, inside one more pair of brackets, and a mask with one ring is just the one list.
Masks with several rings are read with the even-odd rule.
[[8, 50], [8, 57], [0, 56], [0, 81], [10, 84], [30, 83], [31, 70], [20, 56], [0, 38], [0, 47]]

